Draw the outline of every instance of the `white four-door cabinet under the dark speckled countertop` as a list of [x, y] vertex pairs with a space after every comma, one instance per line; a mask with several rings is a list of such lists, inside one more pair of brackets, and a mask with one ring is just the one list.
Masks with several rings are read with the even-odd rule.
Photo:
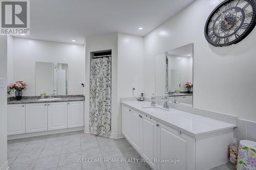
[[83, 127], [83, 107], [83, 101], [8, 105], [8, 135]]

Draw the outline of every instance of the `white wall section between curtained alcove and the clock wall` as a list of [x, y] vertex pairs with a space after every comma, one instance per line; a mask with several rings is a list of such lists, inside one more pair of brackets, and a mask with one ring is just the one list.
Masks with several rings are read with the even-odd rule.
[[118, 98], [143, 92], [143, 37], [118, 33]]

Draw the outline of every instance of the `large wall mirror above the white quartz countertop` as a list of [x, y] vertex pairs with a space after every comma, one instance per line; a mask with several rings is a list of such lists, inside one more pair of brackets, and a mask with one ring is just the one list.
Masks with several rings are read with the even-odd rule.
[[193, 106], [193, 43], [156, 56], [156, 97]]

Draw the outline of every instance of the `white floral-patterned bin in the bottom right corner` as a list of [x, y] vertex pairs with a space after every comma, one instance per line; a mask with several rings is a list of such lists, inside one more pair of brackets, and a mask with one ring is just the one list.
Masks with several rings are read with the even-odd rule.
[[256, 142], [241, 140], [238, 152], [238, 170], [256, 169]]

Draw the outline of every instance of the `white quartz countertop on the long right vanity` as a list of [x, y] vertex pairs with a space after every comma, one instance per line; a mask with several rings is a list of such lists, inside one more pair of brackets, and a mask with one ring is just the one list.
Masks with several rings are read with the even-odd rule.
[[[121, 104], [129, 106], [131, 109], [150, 115], [152, 118], [162, 122], [176, 130], [179, 130], [191, 137], [197, 137], [198, 135], [232, 129], [237, 125], [221, 122], [216, 119], [176, 110], [168, 109], [146, 109], [146, 106], [150, 106], [150, 102], [137, 102], [127, 101], [121, 102]], [[162, 107], [156, 105], [157, 107]], [[156, 111], [157, 110], [157, 111]], [[161, 111], [162, 110], [162, 111]]]

